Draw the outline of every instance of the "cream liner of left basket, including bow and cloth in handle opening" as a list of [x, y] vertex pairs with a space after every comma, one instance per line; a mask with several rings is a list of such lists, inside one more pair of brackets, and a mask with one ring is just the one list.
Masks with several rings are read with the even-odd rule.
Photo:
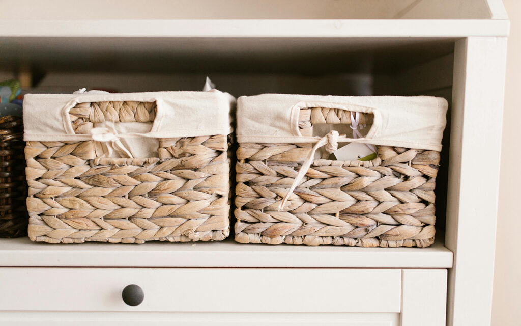
[[[76, 135], [69, 118], [70, 109], [78, 103], [105, 101], [155, 102], [156, 117], [153, 123], [95, 124], [91, 135]], [[97, 140], [106, 144], [104, 155], [106, 157], [156, 157], [158, 138], [229, 135], [231, 132], [229, 114], [232, 105], [234, 105], [234, 98], [218, 90], [119, 94], [27, 94], [23, 101], [23, 139], [25, 141]], [[121, 146], [118, 146], [118, 143]]]

